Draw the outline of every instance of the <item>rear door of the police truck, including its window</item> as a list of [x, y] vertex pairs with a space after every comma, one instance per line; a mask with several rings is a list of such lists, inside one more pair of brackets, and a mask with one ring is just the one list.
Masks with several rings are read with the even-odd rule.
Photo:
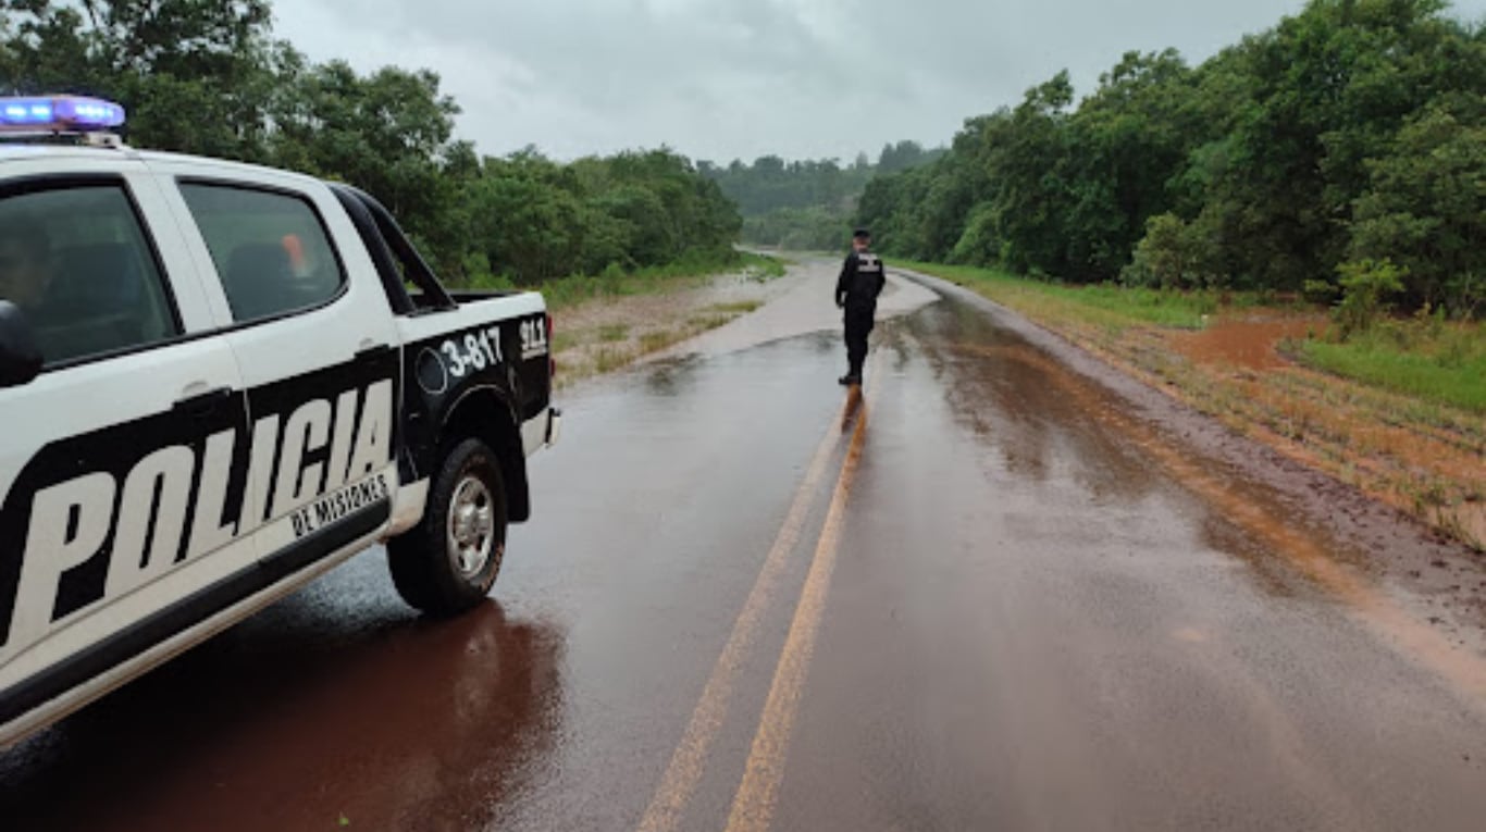
[[[244, 383], [248, 505], [275, 575], [386, 527], [397, 489], [397, 330], [364, 247], [330, 190], [297, 177], [180, 171], [180, 207], [218, 281]], [[190, 233], [187, 236], [192, 236]]]

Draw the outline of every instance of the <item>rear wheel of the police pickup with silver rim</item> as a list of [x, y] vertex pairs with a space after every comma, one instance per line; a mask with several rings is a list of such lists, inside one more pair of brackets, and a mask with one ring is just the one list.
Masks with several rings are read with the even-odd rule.
[[480, 440], [450, 449], [428, 492], [424, 519], [388, 542], [392, 584], [429, 615], [455, 615], [481, 600], [505, 556], [505, 481]]

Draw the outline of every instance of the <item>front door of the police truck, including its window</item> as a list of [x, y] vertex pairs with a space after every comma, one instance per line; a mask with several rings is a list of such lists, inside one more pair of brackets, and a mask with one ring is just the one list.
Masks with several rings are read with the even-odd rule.
[[0, 389], [0, 724], [199, 623], [192, 599], [253, 565], [242, 377], [158, 183], [10, 165], [0, 299], [45, 365]]

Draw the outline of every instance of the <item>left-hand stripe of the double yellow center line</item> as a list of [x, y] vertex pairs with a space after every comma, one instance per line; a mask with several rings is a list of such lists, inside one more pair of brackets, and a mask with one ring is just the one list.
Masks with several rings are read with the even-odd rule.
[[[843, 419], [847, 416], [847, 410], [843, 410]], [[637, 826], [640, 832], [669, 832], [681, 822], [681, 813], [687, 807], [687, 801], [691, 799], [697, 781], [701, 780], [701, 771], [706, 767], [712, 741], [727, 719], [728, 701], [733, 698], [739, 669], [747, 657], [753, 639], [758, 636], [758, 627], [764, 618], [764, 611], [768, 608], [770, 594], [779, 584], [785, 565], [789, 562], [789, 554], [799, 542], [799, 535], [810, 516], [811, 498], [825, 478], [826, 467], [831, 462], [831, 452], [835, 450], [838, 437], [840, 429], [832, 422], [826, 435], [822, 437], [814, 458], [810, 461], [810, 468], [805, 469], [805, 478], [795, 492], [795, 501], [785, 516], [785, 523], [774, 538], [773, 548], [768, 550], [768, 556], [764, 559], [764, 566], [753, 581], [753, 588], [743, 603], [743, 611], [739, 612], [737, 621], [733, 624], [728, 643], [722, 648], [722, 654], [712, 667], [712, 676], [707, 679], [707, 686], [701, 691], [701, 700], [697, 701], [691, 722], [687, 724], [687, 732], [682, 735], [681, 744], [676, 746], [676, 752], [670, 758], [670, 765], [666, 767], [666, 774], [655, 789], [655, 796], [651, 798], [651, 804], [640, 819], [640, 825]]]

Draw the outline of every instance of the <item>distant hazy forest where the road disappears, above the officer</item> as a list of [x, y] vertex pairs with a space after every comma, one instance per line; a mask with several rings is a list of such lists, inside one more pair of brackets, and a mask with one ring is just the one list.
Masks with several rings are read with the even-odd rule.
[[743, 212], [743, 241], [791, 250], [838, 248], [850, 236], [851, 215], [866, 183], [878, 174], [906, 171], [938, 159], [915, 141], [884, 144], [877, 162], [866, 153], [851, 165], [837, 159], [785, 162], [761, 156], [752, 165], [736, 159], [722, 168], [697, 162], [703, 175]]

